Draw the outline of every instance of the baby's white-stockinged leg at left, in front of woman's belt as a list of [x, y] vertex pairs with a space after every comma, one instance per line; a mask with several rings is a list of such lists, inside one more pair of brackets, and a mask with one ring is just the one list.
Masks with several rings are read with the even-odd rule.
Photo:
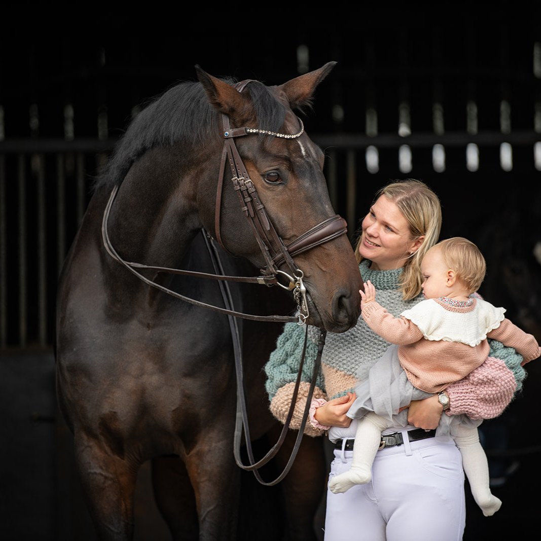
[[353, 445], [351, 468], [329, 481], [334, 494], [346, 492], [354, 485], [364, 485], [372, 479], [372, 463], [381, 442], [381, 431], [391, 426], [389, 421], [373, 412], [359, 420]]

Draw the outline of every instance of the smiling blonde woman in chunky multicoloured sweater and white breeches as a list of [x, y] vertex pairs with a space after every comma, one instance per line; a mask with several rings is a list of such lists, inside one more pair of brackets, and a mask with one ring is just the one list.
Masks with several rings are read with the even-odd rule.
[[[416, 180], [383, 187], [362, 221], [355, 248], [361, 276], [373, 283], [378, 299], [394, 316], [423, 300], [420, 261], [438, 241], [440, 226], [437, 195]], [[312, 340], [292, 428], [300, 426], [304, 411], [317, 329], [309, 329], [309, 336]], [[266, 365], [271, 412], [282, 422], [291, 403], [303, 342], [304, 329], [286, 324]], [[314, 437], [327, 433], [331, 440], [334, 460], [329, 479], [351, 467], [358, 422], [346, 415], [355, 400], [352, 391], [388, 346], [362, 318], [345, 333], [327, 334], [311, 404], [311, 423], [307, 423], [305, 433]], [[407, 414], [409, 424], [385, 431], [386, 445], [376, 454], [371, 481], [345, 493], [327, 492], [326, 541], [403, 541], [405, 532], [416, 541], [432, 541], [434, 532], [440, 541], [463, 537], [465, 494], [460, 452], [451, 438], [435, 438], [432, 429], [438, 426], [443, 411], [440, 400], [447, 401], [451, 414], [476, 417], [484, 407], [486, 387], [496, 383], [499, 388], [503, 381], [512, 395], [522, 386], [523, 359], [514, 349], [492, 341], [490, 355], [491, 362], [499, 367], [497, 381], [497, 371], [494, 367], [485, 370], [485, 363], [443, 393], [412, 402]], [[480, 381], [485, 387], [482, 393], [477, 388]], [[393, 444], [398, 441], [400, 445]]]

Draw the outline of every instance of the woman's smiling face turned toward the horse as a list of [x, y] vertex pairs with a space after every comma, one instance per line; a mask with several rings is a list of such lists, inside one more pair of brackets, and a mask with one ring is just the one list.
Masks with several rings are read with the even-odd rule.
[[410, 252], [416, 252], [423, 237], [412, 239], [410, 226], [397, 205], [381, 195], [362, 220], [359, 254], [379, 271], [398, 269]]

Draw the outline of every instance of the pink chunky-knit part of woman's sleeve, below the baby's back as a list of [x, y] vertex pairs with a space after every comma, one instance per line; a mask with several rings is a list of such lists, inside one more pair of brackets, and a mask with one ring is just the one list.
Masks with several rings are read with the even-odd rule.
[[[478, 387], [475, 393], [472, 386]], [[471, 419], [493, 419], [504, 412], [516, 387], [513, 373], [505, 363], [487, 357], [481, 366], [447, 388], [451, 406], [445, 413], [458, 415], [467, 412]], [[453, 409], [453, 401], [460, 405], [459, 410]]]

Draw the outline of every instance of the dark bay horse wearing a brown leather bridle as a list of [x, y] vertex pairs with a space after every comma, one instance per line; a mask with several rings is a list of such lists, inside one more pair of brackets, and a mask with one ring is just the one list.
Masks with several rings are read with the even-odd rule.
[[[134, 118], [95, 184], [58, 285], [55, 352], [58, 403], [100, 539], [133, 539], [147, 460], [174, 539], [240, 539], [230, 313], [252, 440], [276, 432], [262, 367], [283, 321], [344, 332], [359, 317], [362, 283], [329, 201], [324, 154], [293, 112], [311, 104], [334, 64], [273, 87], [196, 66], [197, 82]], [[221, 282], [163, 271], [215, 274], [208, 242], [224, 275], [261, 272], [232, 280], [230, 312]], [[286, 453], [291, 441], [288, 433]], [[321, 451], [304, 438], [282, 481], [291, 538], [314, 538]], [[285, 464], [282, 450], [275, 460]]]

